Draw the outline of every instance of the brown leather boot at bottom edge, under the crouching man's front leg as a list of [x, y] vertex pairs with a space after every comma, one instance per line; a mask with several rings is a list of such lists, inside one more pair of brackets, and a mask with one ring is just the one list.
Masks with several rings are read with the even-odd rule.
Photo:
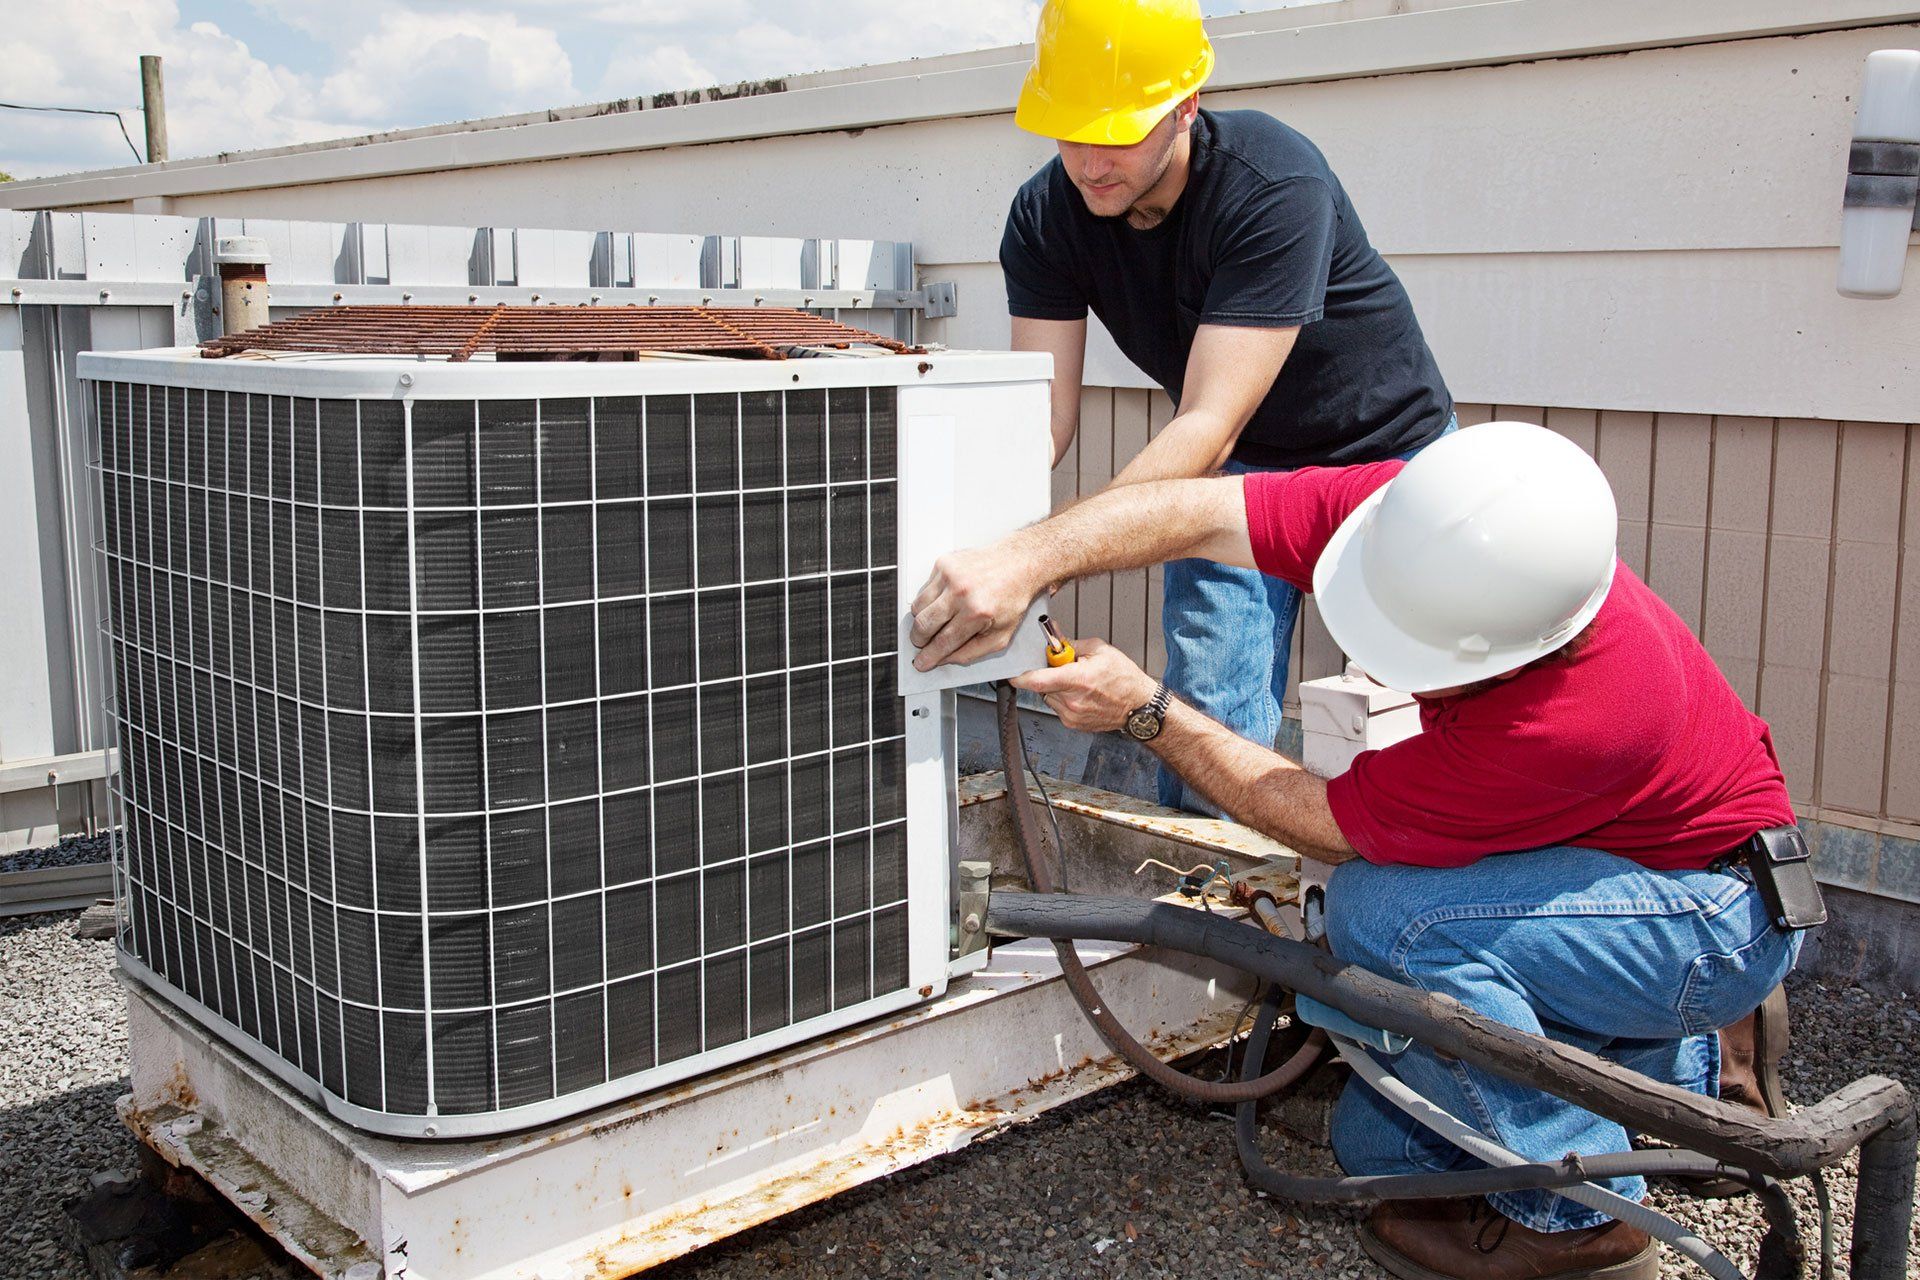
[[1390, 1199], [1359, 1228], [1359, 1247], [1400, 1280], [1655, 1280], [1653, 1240], [1626, 1222], [1536, 1232], [1484, 1197]]

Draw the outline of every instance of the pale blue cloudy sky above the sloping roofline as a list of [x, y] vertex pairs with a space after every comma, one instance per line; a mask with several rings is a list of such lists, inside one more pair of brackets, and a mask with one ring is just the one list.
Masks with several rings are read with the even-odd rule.
[[[1208, 15], [1311, 0], [1202, 0]], [[0, 98], [125, 109], [167, 69], [175, 157], [1031, 38], [1037, 0], [25, 0]], [[0, 111], [17, 178], [132, 163], [104, 117]]]

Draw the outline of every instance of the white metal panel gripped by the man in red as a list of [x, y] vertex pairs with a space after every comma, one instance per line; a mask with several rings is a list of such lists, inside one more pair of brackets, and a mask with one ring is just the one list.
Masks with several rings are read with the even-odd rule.
[[1000, 654], [914, 670], [908, 610], [933, 560], [1046, 518], [1052, 501], [1048, 384], [900, 390], [900, 691], [954, 689], [1046, 666], [1037, 599]]

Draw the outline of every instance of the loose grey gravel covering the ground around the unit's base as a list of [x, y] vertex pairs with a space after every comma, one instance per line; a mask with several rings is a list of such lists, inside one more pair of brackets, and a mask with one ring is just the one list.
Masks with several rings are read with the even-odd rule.
[[[90, 1174], [136, 1159], [113, 1113], [127, 1088], [113, 948], [75, 940], [73, 921], [73, 912], [0, 921], [0, 1276], [8, 1280], [84, 1280], [81, 1259], [61, 1244], [60, 1207], [86, 1192]], [[1868, 1073], [1920, 1092], [1920, 1002], [1801, 979], [1791, 988], [1786, 1082], [1795, 1102]], [[1267, 1150], [1286, 1167], [1334, 1173], [1325, 1150], [1277, 1132]], [[1845, 1274], [1851, 1161], [1830, 1184]], [[1736, 1263], [1753, 1265], [1763, 1226], [1751, 1201], [1655, 1196]], [[1795, 1196], [1811, 1240], [1811, 1190]], [[1223, 1115], [1135, 1080], [649, 1276], [1386, 1276], [1359, 1251], [1357, 1219], [1359, 1211], [1248, 1192]], [[1667, 1274], [1701, 1272], [1668, 1255]]]

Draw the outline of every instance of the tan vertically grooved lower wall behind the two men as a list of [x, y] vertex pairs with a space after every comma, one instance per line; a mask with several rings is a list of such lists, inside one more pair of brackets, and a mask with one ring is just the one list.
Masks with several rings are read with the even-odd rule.
[[[1054, 503], [1098, 491], [1171, 416], [1162, 391], [1091, 388]], [[1795, 804], [1889, 835], [1920, 825], [1920, 424], [1461, 405], [1461, 426], [1540, 422], [1599, 459], [1620, 557], [1686, 618], [1774, 727]], [[1165, 662], [1160, 572], [1068, 587], [1054, 612], [1148, 670]], [[1313, 614], [1294, 683], [1340, 670]], [[1292, 699], [1288, 699], [1292, 702]]]

